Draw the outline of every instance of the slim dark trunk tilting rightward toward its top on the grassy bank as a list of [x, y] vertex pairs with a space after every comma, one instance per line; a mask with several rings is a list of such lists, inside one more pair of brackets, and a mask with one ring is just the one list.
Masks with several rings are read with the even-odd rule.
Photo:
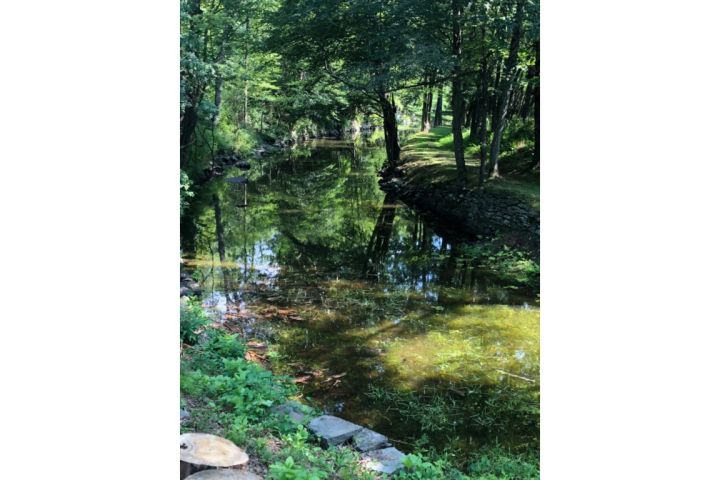
[[525, 11], [525, 0], [518, 0], [515, 8], [515, 17], [513, 19], [513, 33], [510, 39], [510, 54], [508, 55], [505, 65], [505, 75], [500, 85], [500, 101], [498, 102], [497, 111], [494, 115], [495, 122], [493, 125], [493, 139], [490, 145], [490, 163], [492, 164], [492, 177], [499, 177], [500, 170], [498, 168], [498, 158], [500, 156], [500, 139], [505, 129], [505, 120], [507, 118], [508, 105], [510, 104], [510, 96], [512, 88], [517, 77], [517, 61], [518, 51], [520, 50], [520, 37], [522, 35], [522, 20]]

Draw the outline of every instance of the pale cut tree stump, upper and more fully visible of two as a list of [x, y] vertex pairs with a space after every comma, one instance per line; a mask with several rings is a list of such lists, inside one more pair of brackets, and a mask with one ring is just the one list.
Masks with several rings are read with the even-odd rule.
[[239, 467], [247, 453], [230, 440], [208, 433], [180, 435], [180, 480], [195, 472], [218, 467]]

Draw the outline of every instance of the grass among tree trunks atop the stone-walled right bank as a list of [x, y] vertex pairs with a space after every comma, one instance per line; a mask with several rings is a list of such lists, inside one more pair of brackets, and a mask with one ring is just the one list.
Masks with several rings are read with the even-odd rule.
[[[517, 122], [508, 126], [508, 145], [499, 160], [501, 178], [488, 180], [485, 188], [489, 192], [514, 196], [539, 209], [540, 178], [537, 172], [529, 170], [533, 146], [531, 142], [518, 138], [525, 129], [525, 125]], [[470, 142], [469, 135], [468, 130], [463, 132], [465, 163], [468, 182], [475, 186], [480, 172], [480, 147]], [[457, 174], [450, 127], [443, 125], [410, 136], [402, 146], [402, 161], [405, 177], [411, 183], [440, 188], [454, 186]]]

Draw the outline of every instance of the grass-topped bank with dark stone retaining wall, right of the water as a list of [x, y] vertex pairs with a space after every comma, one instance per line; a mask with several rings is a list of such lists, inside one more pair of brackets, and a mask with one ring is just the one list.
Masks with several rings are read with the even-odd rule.
[[534, 252], [540, 245], [540, 178], [532, 150], [519, 143], [500, 157], [502, 177], [478, 188], [478, 147], [465, 147], [468, 184], [457, 183], [452, 132], [439, 126], [408, 138], [400, 165], [384, 172], [381, 188], [410, 207], [439, 219], [440, 226], [476, 238], [502, 237]]

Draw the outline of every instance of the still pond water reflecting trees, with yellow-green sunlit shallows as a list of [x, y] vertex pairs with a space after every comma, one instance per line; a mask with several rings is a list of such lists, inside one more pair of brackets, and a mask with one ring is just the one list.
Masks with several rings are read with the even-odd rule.
[[269, 340], [306, 400], [400, 445], [536, 446], [537, 288], [387, 196], [383, 161], [341, 141], [256, 159], [247, 206], [213, 180], [183, 231], [204, 305]]

